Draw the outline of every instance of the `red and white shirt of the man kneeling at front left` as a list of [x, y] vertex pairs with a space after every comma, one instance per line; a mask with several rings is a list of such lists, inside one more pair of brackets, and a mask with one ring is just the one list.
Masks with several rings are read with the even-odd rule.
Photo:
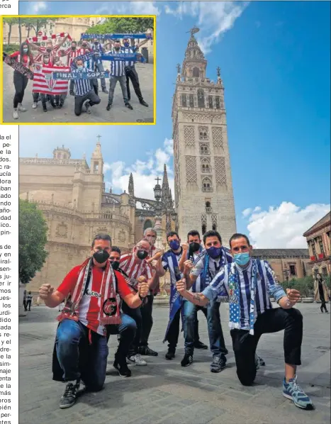
[[[79, 277], [79, 269], [81, 266], [74, 267], [58, 287], [57, 291], [60, 291], [65, 298], [74, 291], [74, 287], [77, 284]], [[117, 277], [117, 291], [121, 299], [131, 294], [130, 287], [126, 283], [124, 277], [120, 272], [115, 271]], [[103, 277], [103, 269], [92, 267], [91, 278], [89, 285], [86, 287], [82, 301], [79, 303], [79, 321], [85, 325], [85, 327], [98, 333], [100, 335], [106, 335], [104, 325], [100, 325], [100, 312], [102, 305], [101, 303], [101, 283]]]

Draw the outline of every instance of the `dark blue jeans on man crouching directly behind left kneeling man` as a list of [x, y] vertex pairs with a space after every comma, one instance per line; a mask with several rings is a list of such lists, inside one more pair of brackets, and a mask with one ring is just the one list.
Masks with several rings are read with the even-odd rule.
[[125, 313], [121, 313], [120, 318], [122, 319], [120, 325], [106, 325], [107, 343], [112, 334], [119, 334], [120, 343], [115, 354], [115, 359], [118, 361], [125, 361], [125, 358], [128, 356], [130, 345], [135, 338], [137, 325], [135, 320]]

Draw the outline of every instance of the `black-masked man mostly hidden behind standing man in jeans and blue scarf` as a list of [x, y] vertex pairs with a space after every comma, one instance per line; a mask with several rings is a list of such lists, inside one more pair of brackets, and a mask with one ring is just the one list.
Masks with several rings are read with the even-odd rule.
[[[191, 260], [194, 262], [198, 255], [202, 252], [203, 247], [201, 246], [200, 234], [196, 230], [189, 231], [187, 235], [187, 243], [182, 245], [183, 255], [181, 255], [181, 260], [179, 261], [179, 269], [181, 272], [184, 272], [184, 263], [186, 260]], [[196, 280], [194, 284], [194, 289], [200, 289], [200, 277]], [[195, 349], [208, 349], [208, 346], [200, 341], [198, 333], [198, 313], [196, 313], [196, 322], [194, 323], [194, 348]]]

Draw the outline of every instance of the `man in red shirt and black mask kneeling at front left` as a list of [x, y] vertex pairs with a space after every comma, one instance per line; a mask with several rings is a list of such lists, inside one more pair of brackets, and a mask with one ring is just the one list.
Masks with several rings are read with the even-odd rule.
[[135, 335], [132, 318], [120, 312], [120, 299], [138, 308], [148, 292], [142, 281], [138, 293], [133, 294], [123, 276], [114, 272], [109, 261], [111, 237], [99, 234], [91, 245], [91, 257], [74, 267], [55, 290], [50, 284], [40, 287], [40, 298], [46, 306], [55, 308], [69, 298], [57, 317], [55, 350], [52, 372], [55, 381], [67, 383], [60, 400], [60, 408], [73, 406], [82, 380], [86, 389], [100, 391], [106, 379], [108, 357], [107, 330], [120, 333], [120, 346], [113, 366], [121, 376], [130, 376], [125, 361]]

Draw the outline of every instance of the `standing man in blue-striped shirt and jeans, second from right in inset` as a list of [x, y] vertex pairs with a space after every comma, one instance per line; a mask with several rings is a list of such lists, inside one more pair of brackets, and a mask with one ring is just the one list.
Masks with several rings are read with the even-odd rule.
[[[106, 52], [108, 53], [120, 53], [120, 40], [114, 40], [113, 49]], [[133, 107], [128, 101], [128, 90], [126, 89], [126, 77], [125, 77], [125, 62], [124, 60], [112, 60], [111, 61], [111, 82], [109, 85], [109, 94], [108, 94], [108, 105], [106, 107], [107, 111], [111, 110], [113, 106], [113, 96], [117, 82], [120, 83], [120, 88], [122, 89], [123, 100], [125, 107], [130, 110], [133, 110]]]

